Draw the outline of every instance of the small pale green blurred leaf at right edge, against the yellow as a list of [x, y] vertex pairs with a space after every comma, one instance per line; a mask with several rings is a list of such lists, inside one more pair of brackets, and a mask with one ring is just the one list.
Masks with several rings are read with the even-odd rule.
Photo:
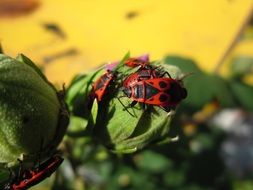
[[232, 77], [241, 77], [253, 72], [253, 57], [238, 56], [230, 66]]

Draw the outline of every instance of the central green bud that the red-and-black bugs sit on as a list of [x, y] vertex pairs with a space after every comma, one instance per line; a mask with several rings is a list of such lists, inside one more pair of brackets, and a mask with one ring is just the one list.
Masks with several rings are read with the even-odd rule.
[[[152, 65], [161, 67], [172, 78], [178, 79], [183, 75], [180, 69], [175, 66], [159, 62]], [[136, 69], [129, 69], [124, 66], [117, 71], [128, 76]], [[120, 81], [124, 77], [120, 77], [120, 74], [118, 77], [116, 85], [122, 85]], [[168, 132], [174, 110], [166, 112], [159, 106], [153, 105], [145, 105], [143, 108], [142, 103], [128, 107], [133, 100], [126, 97], [120, 87], [114, 86], [108, 91], [110, 92], [108, 98], [98, 104], [94, 136], [110, 150], [119, 153], [132, 153], [150, 143], [169, 142], [173, 139], [168, 136]], [[127, 110], [120, 101], [125, 107], [128, 107]]]

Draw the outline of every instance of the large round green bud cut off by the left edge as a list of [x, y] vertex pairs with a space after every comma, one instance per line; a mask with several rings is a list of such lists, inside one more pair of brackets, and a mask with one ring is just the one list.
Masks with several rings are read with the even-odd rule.
[[0, 54], [0, 163], [43, 160], [56, 151], [68, 125], [61, 92], [24, 55]]

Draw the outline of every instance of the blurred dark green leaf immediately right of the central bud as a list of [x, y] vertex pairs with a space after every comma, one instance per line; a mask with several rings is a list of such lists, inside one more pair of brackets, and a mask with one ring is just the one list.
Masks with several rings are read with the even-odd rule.
[[[214, 74], [201, 71], [196, 64], [180, 57], [166, 57], [168, 65], [178, 66], [185, 74], [184, 84], [188, 90], [188, 97], [183, 104], [196, 111], [205, 104], [217, 100], [223, 107], [234, 106], [234, 99], [229, 91], [228, 82]], [[187, 74], [190, 74], [187, 76]]]

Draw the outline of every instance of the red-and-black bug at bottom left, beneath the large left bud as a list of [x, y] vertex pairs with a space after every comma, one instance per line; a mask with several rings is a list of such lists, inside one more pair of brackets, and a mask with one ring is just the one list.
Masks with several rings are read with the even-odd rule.
[[14, 178], [11, 183], [5, 185], [4, 190], [28, 189], [49, 177], [57, 170], [62, 162], [63, 158], [55, 155], [34, 169], [21, 171], [19, 176]]

